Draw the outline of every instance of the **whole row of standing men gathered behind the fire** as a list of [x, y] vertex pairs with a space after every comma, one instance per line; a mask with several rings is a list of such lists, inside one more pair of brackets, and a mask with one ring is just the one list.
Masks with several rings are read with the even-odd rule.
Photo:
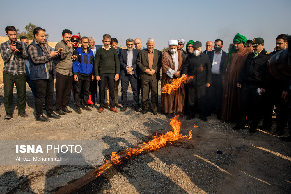
[[[217, 119], [237, 122], [234, 130], [244, 129], [246, 122], [250, 121], [249, 132], [255, 133], [261, 116], [264, 120], [260, 129], [271, 129], [276, 106], [277, 127], [274, 134], [278, 136], [283, 134], [288, 121], [290, 80], [277, 79], [267, 70], [272, 54], [286, 49], [286, 34], [276, 38], [272, 53], [264, 49], [263, 38], [247, 40], [239, 33], [229, 45], [228, 53], [222, 50], [221, 39], [216, 39], [214, 43], [207, 41], [206, 50], [202, 52], [200, 41], [189, 40], [186, 44], [182, 38], [168, 40], [169, 49], [162, 53], [155, 49], [152, 38], [146, 41], [146, 48], [142, 47], [139, 38], [128, 38], [127, 48], [122, 49], [118, 47], [117, 39], [109, 34], [103, 35], [103, 45], [96, 45], [94, 37], [80, 38], [80, 35], [72, 35], [72, 31], [65, 29], [62, 40], [53, 49], [46, 43], [46, 30], [40, 27], [34, 29], [34, 39], [30, 44], [27, 37], [17, 41], [14, 26], [7, 26], [5, 31], [9, 40], [0, 45], [4, 60], [4, 119], [13, 116], [14, 84], [18, 96], [18, 115], [28, 116], [25, 113], [27, 82], [35, 97], [36, 120], [48, 122], [49, 118], [58, 119], [60, 115], [72, 113], [67, 108], [72, 90], [75, 112], [81, 114], [81, 109], [92, 111], [91, 108], [97, 103], [97, 83], [99, 113], [107, 107], [118, 112], [115, 107], [120, 107], [119, 83], [120, 111], [126, 111], [130, 83], [134, 110], [146, 114], [150, 94], [150, 108], [156, 115], [159, 80], [163, 87], [181, 76], [194, 76], [170, 94], [161, 93], [163, 114], [168, 117], [187, 115], [185, 119], [191, 120], [195, 118], [195, 113], [199, 113], [199, 119], [206, 122], [208, 116], [216, 113]], [[57, 114], [53, 112], [54, 77]]]

